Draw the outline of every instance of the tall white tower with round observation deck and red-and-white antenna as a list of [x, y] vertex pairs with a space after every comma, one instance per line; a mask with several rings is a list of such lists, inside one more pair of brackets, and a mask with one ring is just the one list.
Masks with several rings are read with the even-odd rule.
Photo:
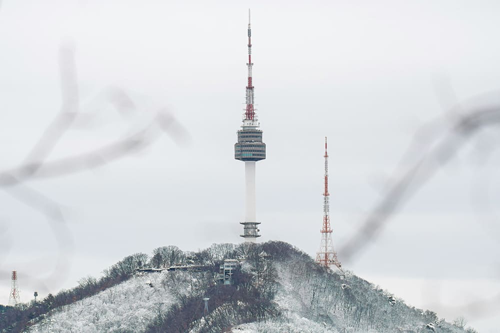
[[265, 159], [265, 143], [262, 142], [262, 130], [253, 107], [253, 82], [251, 69], [251, 28], [250, 9], [248, 9], [248, 78], [246, 83], [246, 110], [243, 113], [241, 129], [237, 131], [238, 142], [234, 144], [234, 158], [245, 162], [245, 220], [243, 233], [245, 242], [255, 242], [260, 222], [255, 217], [255, 162]]

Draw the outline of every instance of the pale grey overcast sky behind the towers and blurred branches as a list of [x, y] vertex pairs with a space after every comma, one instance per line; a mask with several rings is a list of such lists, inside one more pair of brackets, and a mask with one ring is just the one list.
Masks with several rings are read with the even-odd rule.
[[[135, 252], [241, 241], [244, 166], [233, 144], [249, 6], [267, 145], [256, 165], [259, 241], [315, 255], [324, 136], [341, 249], [393, 173], [411, 165], [412, 156], [398, 168], [415, 133], [436, 119], [444, 133], [454, 102], [500, 90], [497, 1], [3, 0], [1, 170], [25, 159], [61, 109], [61, 45], [74, 50], [86, 116], [47, 160], [120, 138], [163, 107], [189, 139], [179, 145], [162, 136], [101, 168], [26, 182], [62, 208], [59, 225], [25, 205], [16, 188], [1, 192], [0, 303], [14, 269], [28, 301], [34, 290], [44, 297], [70, 288]], [[103, 94], [109, 87], [124, 91], [135, 111], [116, 112]], [[492, 314], [461, 307], [500, 293], [498, 132], [467, 140], [344, 267], [439, 317], [463, 315], [480, 332], [500, 332]]]

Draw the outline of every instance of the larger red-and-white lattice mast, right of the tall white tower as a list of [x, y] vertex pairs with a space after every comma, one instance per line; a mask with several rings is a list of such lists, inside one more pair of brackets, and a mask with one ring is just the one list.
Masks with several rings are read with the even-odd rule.
[[316, 263], [325, 268], [331, 265], [341, 270], [337, 253], [333, 250], [330, 226], [330, 203], [328, 200], [328, 153], [326, 152], [326, 136], [324, 137], [324, 193], [323, 193], [323, 227], [321, 228], [321, 245], [316, 253]]

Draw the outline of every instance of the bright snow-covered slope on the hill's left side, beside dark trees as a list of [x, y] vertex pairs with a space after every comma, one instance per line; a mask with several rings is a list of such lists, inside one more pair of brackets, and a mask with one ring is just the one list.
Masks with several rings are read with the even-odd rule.
[[[137, 275], [69, 305], [37, 323], [29, 333], [140, 332], [172, 303], [161, 283], [168, 272]], [[152, 287], [149, 286], [152, 284]]]

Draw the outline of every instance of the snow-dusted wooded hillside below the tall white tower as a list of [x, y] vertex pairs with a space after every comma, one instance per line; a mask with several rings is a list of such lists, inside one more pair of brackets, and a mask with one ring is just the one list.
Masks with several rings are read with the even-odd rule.
[[[221, 249], [184, 256], [202, 269], [137, 273], [53, 309], [27, 332], [464, 332], [348, 272], [324, 271], [289, 244]], [[213, 280], [225, 258], [240, 260], [233, 286]]]

